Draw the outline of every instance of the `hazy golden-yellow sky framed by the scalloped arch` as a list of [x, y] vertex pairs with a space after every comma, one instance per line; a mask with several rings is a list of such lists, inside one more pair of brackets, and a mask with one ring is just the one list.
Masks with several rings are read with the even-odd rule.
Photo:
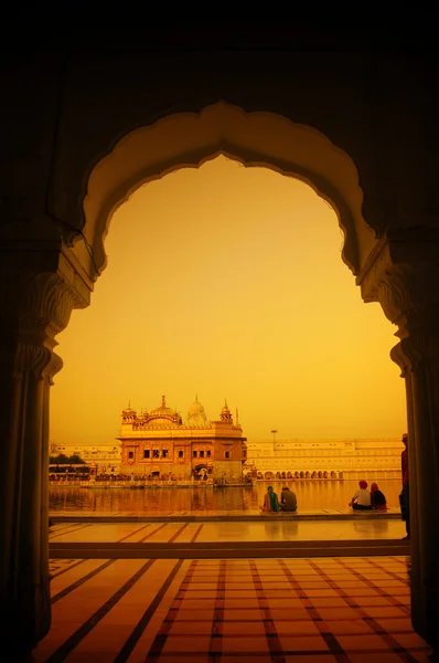
[[341, 260], [335, 212], [307, 185], [224, 157], [139, 189], [115, 213], [92, 306], [57, 337], [51, 440], [113, 443], [120, 412], [207, 418], [244, 434], [399, 438], [396, 332]]

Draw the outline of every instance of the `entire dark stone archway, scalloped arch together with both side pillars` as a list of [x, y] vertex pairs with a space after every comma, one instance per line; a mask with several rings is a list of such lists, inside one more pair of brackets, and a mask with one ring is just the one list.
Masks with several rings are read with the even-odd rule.
[[[15, 249], [1, 264], [8, 394], [7, 443], [0, 464], [7, 543], [0, 570], [3, 579], [20, 579], [3, 582], [3, 628], [17, 633], [17, 642], [20, 632], [26, 632], [33, 645], [50, 627], [43, 469], [49, 456], [50, 386], [62, 366], [53, 351], [55, 336], [68, 324], [72, 308], [89, 304], [94, 282], [106, 266], [104, 241], [117, 207], [141, 185], [218, 155], [297, 177], [328, 200], [344, 232], [343, 260], [356, 276], [364, 301], [379, 302], [398, 326], [400, 343], [393, 359], [407, 383], [413, 615], [418, 632], [436, 642], [438, 629], [431, 615], [439, 588], [439, 288], [435, 287], [439, 233], [415, 220], [410, 228], [383, 231], [378, 238], [372, 222], [363, 218], [357, 171], [345, 151], [314, 128], [272, 113], [245, 113], [223, 102], [200, 114], [169, 115], [126, 135], [88, 178], [83, 236], [76, 234], [73, 245], [67, 245], [61, 234], [52, 242], [47, 232], [49, 242], [42, 227], [32, 259], [29, 251]], [[20, 461], [24, 453], [25, 466]]]

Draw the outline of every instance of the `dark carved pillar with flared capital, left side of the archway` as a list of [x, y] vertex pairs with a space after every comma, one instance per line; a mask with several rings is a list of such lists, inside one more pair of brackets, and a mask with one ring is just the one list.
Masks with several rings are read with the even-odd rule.
[[51, 625], [49, 396], [62, 367], [55, 336], [89, 295], [68, 250], [49, 244], [23, 251], [4, 243], [0, 255], [0, 642], [17, 660]]

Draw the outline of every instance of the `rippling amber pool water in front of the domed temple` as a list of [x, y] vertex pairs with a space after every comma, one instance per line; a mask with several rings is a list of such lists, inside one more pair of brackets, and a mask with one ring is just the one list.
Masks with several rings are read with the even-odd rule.
[[[356, 481], [297, 481], [270, 482], [280, 495], [283, 485], [295, 491], [299, 511], [347, 508], [357, 488]], [[175, 512], [227, 512], [258, 511], [267, 492], [267, 483], [250, 487], [214, 488], [195, 486], [188, 488], [50, 488], [51, 511], [93, 511], [143, 514], [172, 514]], [[379, 482], [390, 507], [398, 508], [399, 480]], [[384, 523], [385, 520], [379, 520]], [[378, 522], [377, 522], [378, 524]]]

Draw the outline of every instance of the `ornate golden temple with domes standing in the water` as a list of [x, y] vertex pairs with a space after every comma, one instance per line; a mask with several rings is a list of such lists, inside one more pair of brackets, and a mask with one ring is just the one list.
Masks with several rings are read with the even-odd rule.
[[120, 440], [121, 472], [137, 476], [178, 481], [202, 478], [239, 483], [246, 460], [246, 438], [233, 420], [227, 402], [216, 421], [208, 421], [195, 398], [185, 420], [167, 406], [142, 411], [130, 404], [122, 411]]

